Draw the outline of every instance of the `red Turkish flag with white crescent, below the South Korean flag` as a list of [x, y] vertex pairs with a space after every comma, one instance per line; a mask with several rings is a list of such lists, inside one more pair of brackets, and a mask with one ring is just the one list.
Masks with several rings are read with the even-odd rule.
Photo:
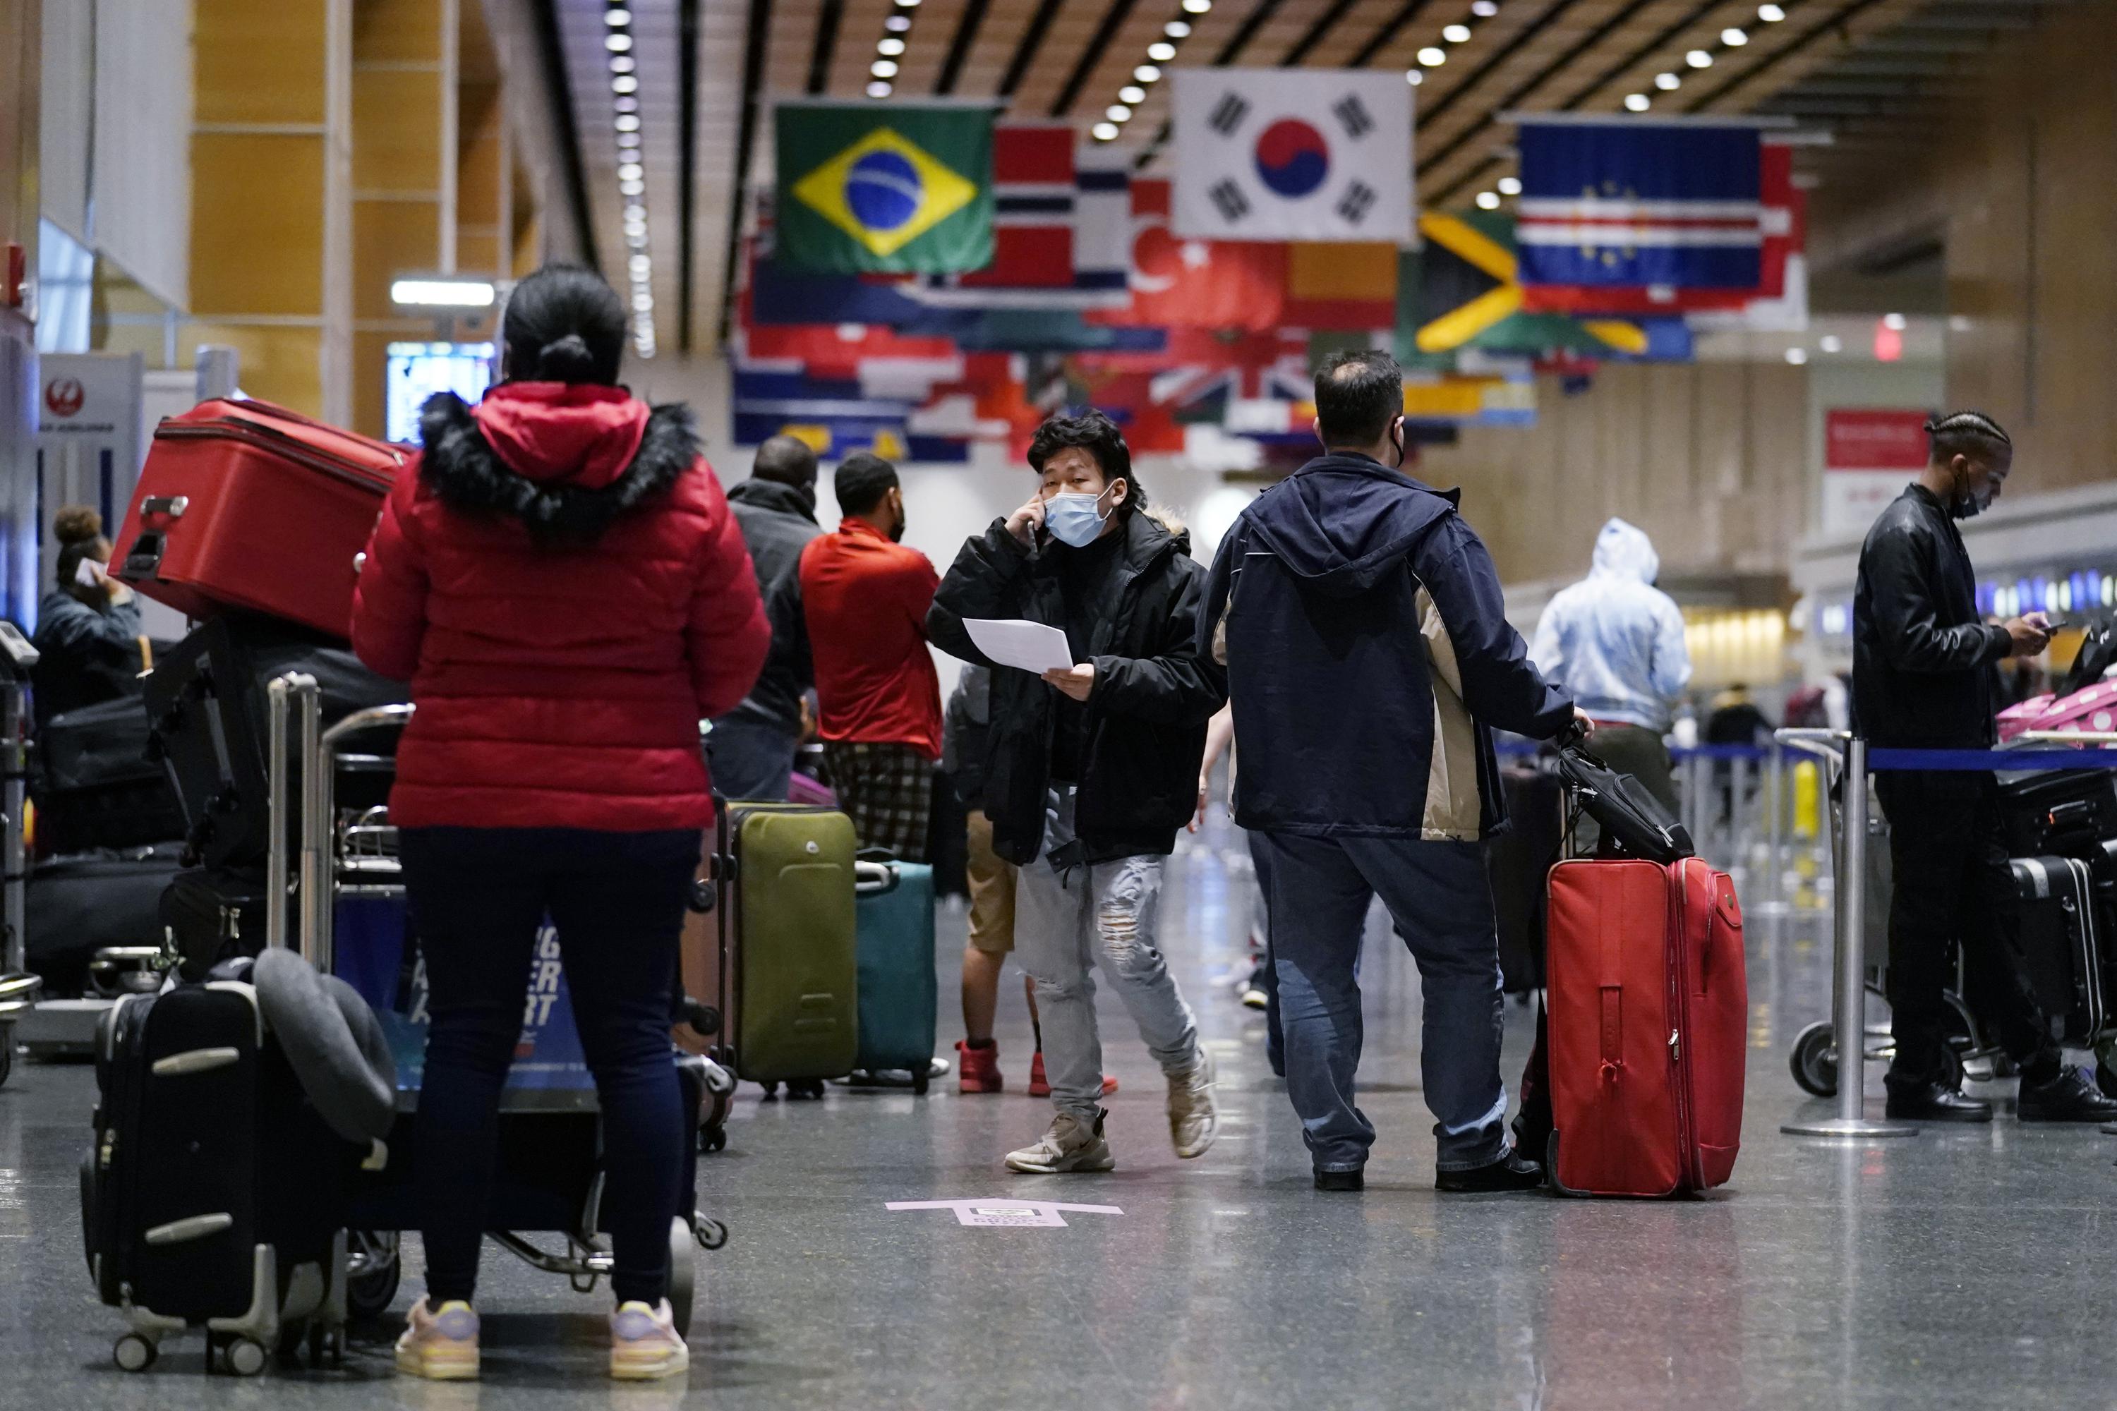
[[1133, 182], [1133, 305], [1090, 311], [1097, 324], [1279, 328], [1287, 248], [1279, 241], [1177, 239], [1169, 182]]

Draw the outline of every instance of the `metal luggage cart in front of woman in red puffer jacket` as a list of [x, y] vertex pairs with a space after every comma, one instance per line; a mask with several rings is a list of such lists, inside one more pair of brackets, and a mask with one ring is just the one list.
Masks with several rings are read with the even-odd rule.
[[[315, 679], [292, 673], [269, 688], [271, 730], [271, 850], [267, 857], [267, 888], [292, 895], [301, 954], [324, 973], [337, 973], [337, 910], [345, 899], [404, 897], [402, 869], [396, 857], [396, 829], [387, 808], [366, 808], [341, 814], [337, 778], [345, 768], [381, 768], [379, 755], [347, 749], [356, 736], [402, 728], [413, 707], [373, 707], [356, 711], [322, 728]], [[290, 740], [290, 726], [298, 743]], [[294, 749], [290, 749], [294, 745]], [[301, 759], [298, 859], [290, 867], [290, 800], [288, 759]], [[267, 912], [267, 943], [288, 941], [286, 908]], [[696, 1009], [696, 1007], [692, 1007]], [[400, 1056], [402, 1045], [419, 1043], [413, 1022], [383, 1013]], [[413, 1049], [417, 1051], [417, 1047]], [[671, 1045], [671, 1062], [680, 1070], [684, 1096], [701, 1115], [718, 1098], [732, 1092], [732, 1077], [707, 1058], [680, 1053]], [[379, 1318], [396, 1297], [402, 1267], [398, 1238], [415, 1229], [417, 1206], [406, 1174], [413, 1151], [411, 1121], [417, 1111], [417, 1087], [406, 1081], [400, 1062], [398, 1119], [390, 1140], [394, 1159], [366, 1178], [354, 1195], [347, 1235], [347, 1303], [356, 1318]], [[591, 1293], [612, 1271], [610, 1240], [603, 1231], [603, 1153], [601, 1117], [593, 1087], [525, 1089], [510, 1083], [502, 1096], [502, 1163], [493, 1189], [493, 1229], [489, 1238], [523, 1263], [567, 1278], [576, 1293]], [[696, 1290], [696, 1250], [718, 1250], [728, 1242], [728, 1227], [694, 1206], [696, 1178], [692, 1159], [699, 1142], [686, 1142], [684, 1208], [669, 1229], [669, 1303], [677, 1328], [690, 1326]], [[561, 1250], [542, 1246], [533, 1235], [559, 1235]]]

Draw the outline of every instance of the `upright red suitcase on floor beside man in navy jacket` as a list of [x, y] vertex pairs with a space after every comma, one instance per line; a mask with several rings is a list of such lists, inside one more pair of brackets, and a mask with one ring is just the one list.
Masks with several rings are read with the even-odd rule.
[[1749, 982], [1734, 880], [1696, 857], [1571, 859], [1550, 880], [1552, 1183], [1677, 1195], [1727, 1180]]

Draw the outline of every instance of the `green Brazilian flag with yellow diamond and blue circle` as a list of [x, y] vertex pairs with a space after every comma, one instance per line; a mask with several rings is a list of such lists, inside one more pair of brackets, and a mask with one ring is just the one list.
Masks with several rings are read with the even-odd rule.
[[781, 104], [775, 258], [857, 275], [993, 262], [993, 108]]

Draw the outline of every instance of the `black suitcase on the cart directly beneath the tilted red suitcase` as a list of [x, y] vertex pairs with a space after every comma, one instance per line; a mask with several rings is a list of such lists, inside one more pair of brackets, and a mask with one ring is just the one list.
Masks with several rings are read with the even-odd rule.
[[[184, 840], [205, 867], [265, 861], [271, 838], [265, 690], [290, 671], [315, 677], [326, 726], [364, 707], [406, 698], [402, 685], [375, 675], [328, 639], [239, 613], [199, 624], [146, 675], [150, 749], [176, 783], [184, 804]], [[368, 808], [387, 802], [387, 770], [366, 778], [370, 783], [362, 787], [358, 770], [341, 774], [339, 804]], [[298, 781], [296, 764], [290, 772], [296, 793]]]

